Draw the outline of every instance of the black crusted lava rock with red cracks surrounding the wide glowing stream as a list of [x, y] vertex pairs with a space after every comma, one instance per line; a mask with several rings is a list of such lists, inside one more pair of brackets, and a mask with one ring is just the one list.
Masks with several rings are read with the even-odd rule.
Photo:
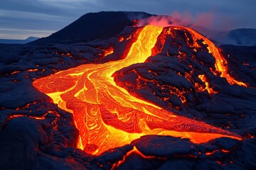
[[[77, 148], [79, 132], [73, 114], [58, 108], [32, 82], [81, 64], [122, 60], [136, 30], [126, 26], [102, 40], [0, 45], [1, 169], [256, 168], [256, 47], [220, 47], [228, 73], [247, 87], [230, 85], [211, 72], [215, 59], [202, 40], [193, 40], [182, 29], [166, 38], [164, 45], [157, 41], [154, 55], [146, 62], [115, 72], [114, 80], [133, 96], [233, 132], [242, 140], [221, 137], [194, 144], [179, 137], [147, 135], [100, 156]], [[191, 47], [195, 41], [199, 46]], [[113, 53], [106, 56], [111, 48]], [[198, 78], [201, 74], [211, 92]]]

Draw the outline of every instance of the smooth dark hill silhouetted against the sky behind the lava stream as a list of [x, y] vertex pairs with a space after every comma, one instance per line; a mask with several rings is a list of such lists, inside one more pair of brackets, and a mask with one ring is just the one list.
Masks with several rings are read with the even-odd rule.
[[132, 26], [132, 17], [146, 18], [152, 16], [144, 12], [100, 12], [87, 13], [77, 21], [59, 30], [47, 38], [41, 38], [32, 44], [73, 43], [90, 40], [107, 40], [124, 30], [125, 26]]

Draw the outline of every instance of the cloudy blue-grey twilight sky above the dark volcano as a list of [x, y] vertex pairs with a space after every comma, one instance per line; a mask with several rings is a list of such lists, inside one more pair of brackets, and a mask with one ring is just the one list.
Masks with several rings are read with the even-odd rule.
[[218, 30], [256, 28], [255, 6], [255, 0], [0, 0], [0, 39], [46, 37], [99, 11], [182, 16]]

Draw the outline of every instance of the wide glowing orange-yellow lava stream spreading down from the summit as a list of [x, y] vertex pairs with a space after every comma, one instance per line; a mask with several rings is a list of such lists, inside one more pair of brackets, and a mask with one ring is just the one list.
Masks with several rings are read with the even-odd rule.
[[[80, 132], [81, 149], [101, 154], [122, 147], [142, 135], [170, 135], [201, 143], [235, 134], [206, 123], [174, 115], [131, 96], [117, 86], [112, 74], [131, 64], [144, 62], [163, 28], [145, 26], [124, 60], [84, 64], [33, 82], [60, 108], [73, 113]], [[135, 83], [135, 82], [134, 82]]]

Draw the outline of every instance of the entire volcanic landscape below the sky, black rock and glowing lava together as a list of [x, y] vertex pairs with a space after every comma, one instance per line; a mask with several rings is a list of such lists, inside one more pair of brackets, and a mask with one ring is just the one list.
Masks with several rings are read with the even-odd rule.
[[150, 16], [0, 44], [0, 169], [256, 169], [256, 47]]

